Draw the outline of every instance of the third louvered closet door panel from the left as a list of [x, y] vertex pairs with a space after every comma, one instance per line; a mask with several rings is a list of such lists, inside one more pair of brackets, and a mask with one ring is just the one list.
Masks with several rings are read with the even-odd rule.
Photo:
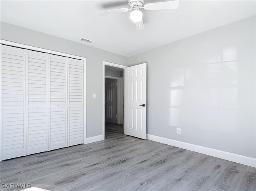
[[67, 142], [67, 58], [49, 54], [49, 150]]

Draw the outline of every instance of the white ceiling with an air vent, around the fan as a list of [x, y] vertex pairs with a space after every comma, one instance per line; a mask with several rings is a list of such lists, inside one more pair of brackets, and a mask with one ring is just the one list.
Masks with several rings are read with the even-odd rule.
[[[148, 2], [150, 0], [145, 1]], [[144, 30], [136, 31], [129, 12], [97, 14], [113, 8], [129, 8], [127, 0], [1, 0], [0, 3], [3, 22], [76, 42], [85, 37], [94, 41], [90, 44], [92, 47], [127, 57], [253, 16], [256, 12], [255, 0], [180, 0], [177, 10], [142, 10]], [[112, 7], [115, 4], [118, 6]]]

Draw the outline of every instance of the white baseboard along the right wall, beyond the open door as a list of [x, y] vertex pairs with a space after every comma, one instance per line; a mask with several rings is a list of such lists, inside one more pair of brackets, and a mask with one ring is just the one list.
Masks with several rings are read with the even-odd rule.
[[185, 143], [185, 142], [180, 142], [180, 141], [176, 141], [176, 140], [172, 140], [172, 139], [158, 137], [158, 136], [154, 136], [154, 135], [150, 135], [150, 134], [147, 134], [147, 139], [156, 141], [156, 142], [160, 142], [163, 144], [175, 146], [178, 148], [214, 156], [217, 158], [233, 161], [236, 163], [248, 165], [251, 167], [256, 167], [256, 159], [255, 158], [250, 158], [250, 157], [246, 157], [246, 156], [242, 156], [242, 155], [238, 155], [238, 154], [234, 154], [234, 153], [230, 153], [230, 152], [220, 151], [220, 150], [211, 149], [211, 148], [207, 148], [207, 147], [203, 147], [203, 146], [198, 146], [198, 145], [194, 145], [194, 144], [190, 144], [190, 143]]

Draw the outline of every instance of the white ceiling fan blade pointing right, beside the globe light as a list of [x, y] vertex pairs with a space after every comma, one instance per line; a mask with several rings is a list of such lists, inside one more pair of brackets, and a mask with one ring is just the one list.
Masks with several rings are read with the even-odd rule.
[[163, 10], [163, 9], [177, 9], [179, 7], [180, 1], [165, 1], [165, 2], [158, 2], [158, 3], [147, 3], [144, 5], [144, 9], [147, 11], [150, 10]]

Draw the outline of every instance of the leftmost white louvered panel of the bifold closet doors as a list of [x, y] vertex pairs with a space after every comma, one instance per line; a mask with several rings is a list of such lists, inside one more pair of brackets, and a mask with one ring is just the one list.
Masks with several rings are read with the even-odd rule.
[[26, 155], [25, 49], [1, 45], [0, 160]]

